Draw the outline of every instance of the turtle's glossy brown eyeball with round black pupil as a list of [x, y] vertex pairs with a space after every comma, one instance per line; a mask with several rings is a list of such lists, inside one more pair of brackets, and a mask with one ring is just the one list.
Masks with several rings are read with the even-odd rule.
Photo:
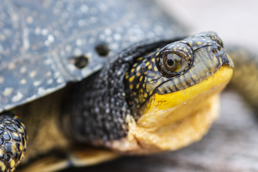
[[162, 68], [170, 74], [179, 74], [187, 68], [187, 61], [174, 53], [164, 54], [161, 59]]

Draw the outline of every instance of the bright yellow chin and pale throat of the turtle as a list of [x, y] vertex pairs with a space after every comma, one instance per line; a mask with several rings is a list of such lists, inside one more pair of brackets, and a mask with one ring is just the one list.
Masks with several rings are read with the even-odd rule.
[[200, 140], [219, 114], [220, 92], [230, 81], [227, 65], [203, 81], [168, 94], [153, 94], [142, 116], [130, 115], [128, 135], [108, 146], [129, 154], [176, 150]]

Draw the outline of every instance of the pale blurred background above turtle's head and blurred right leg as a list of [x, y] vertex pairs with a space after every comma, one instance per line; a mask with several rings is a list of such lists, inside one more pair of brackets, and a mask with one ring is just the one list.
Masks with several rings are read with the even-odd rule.
[[190, 34], [216, 31], [224, 44], [258, 47], [258, 1], [157, 0], [165, 12], [189, 28]]

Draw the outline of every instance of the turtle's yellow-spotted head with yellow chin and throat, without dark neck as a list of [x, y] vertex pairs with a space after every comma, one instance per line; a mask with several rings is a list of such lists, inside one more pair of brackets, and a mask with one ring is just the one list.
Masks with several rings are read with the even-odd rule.
[[200, 140], [219, 114], [219, 93], [231, 79], [232, 67], [214, 32], [136, 59], [124, 78], [132, 110], [125, 142], [135, 146], [128, 151], [176, 150]]

